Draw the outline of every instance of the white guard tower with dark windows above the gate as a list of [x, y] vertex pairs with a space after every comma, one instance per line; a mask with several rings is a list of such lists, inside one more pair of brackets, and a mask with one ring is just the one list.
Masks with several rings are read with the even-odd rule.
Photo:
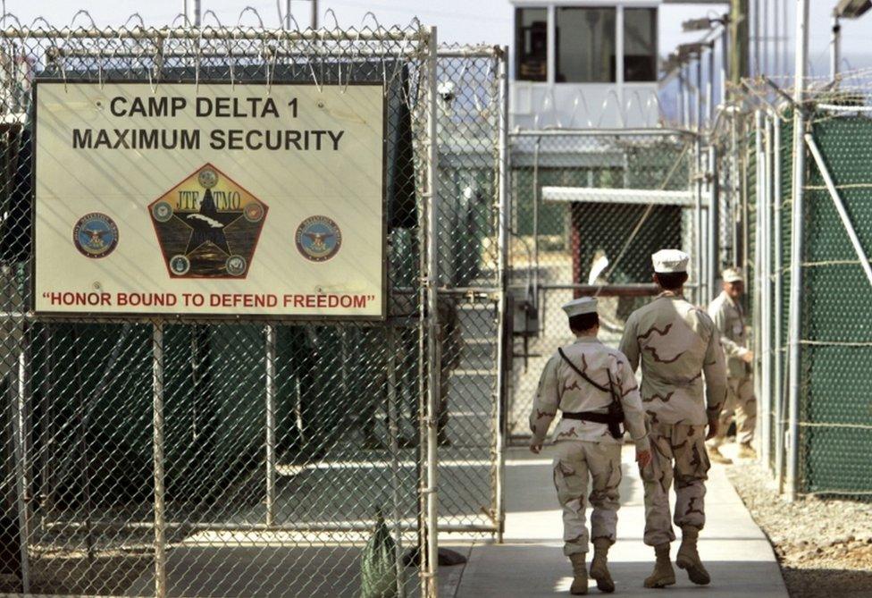
[[659, 0], [510, 0], [511, 126], [658, 124]]

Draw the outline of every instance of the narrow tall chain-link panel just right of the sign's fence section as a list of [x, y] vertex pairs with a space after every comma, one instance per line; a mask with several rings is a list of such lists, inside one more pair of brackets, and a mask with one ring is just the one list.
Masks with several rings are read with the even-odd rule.
[[440, 48], [440, 530], [496, 532], [500, 48]]

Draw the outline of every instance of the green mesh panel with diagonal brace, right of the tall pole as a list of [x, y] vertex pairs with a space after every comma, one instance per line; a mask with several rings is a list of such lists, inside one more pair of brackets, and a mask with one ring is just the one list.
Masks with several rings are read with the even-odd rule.
[[870, 133], [868, 116], [850, 111], [818, 113], [811, 125], [849, 224], [826, 189], [817, 159], [809, 160], [800, 425], [801, 490], [810, 493], [872, 493], [868, 476], [872, 412], [866, 392], [872, 337], [864, 324], [872, 280], [864, 273], [848, 233], [851, 226], [860, 247], [872, 248]]

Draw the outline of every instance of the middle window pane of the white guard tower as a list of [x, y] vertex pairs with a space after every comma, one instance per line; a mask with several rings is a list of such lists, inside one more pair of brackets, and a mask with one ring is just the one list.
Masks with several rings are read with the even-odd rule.
[[614, 83], [616, 9], [558, 8], [558, 83]]

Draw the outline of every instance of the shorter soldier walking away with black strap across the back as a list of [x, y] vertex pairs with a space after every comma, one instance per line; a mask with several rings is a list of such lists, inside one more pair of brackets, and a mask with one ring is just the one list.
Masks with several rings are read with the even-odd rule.
[[549, 359], [530, 414], [530, 450], [539, 453], [558, 409], [563, 412], [556, 431], [554, 485], [563, 508], [564, 554], [574, 572], [572, 594], [587, 594], [584, 498], [589, 475], [594, 549], [591, 577], [601, 591], [615, 591], [607, 555], [615, 543], [623, 435], [616, 429], [618, 422], [613, 425], [618, 436], [615, 438], [608, 424], [601, 421], [608, 418], [608, 407], [614, 401], [619, 400], [624, 408], [624, 423], [636, 445], [636, 460], [644, 465], [651, 459], [639, 386], [626, 358], [597, 340], [596, 306], [596, 299], [582, 298], [563, 307], [576, 339]]

